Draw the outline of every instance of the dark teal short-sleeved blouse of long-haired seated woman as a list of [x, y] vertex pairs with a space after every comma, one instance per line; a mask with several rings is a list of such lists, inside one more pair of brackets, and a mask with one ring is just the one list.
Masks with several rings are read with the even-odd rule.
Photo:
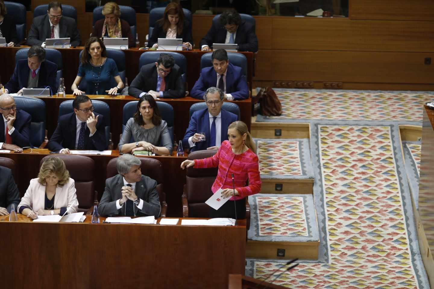
[[77, 76], [84, 78], [86, 81], [86, 94], [102, 95], [107, 94], [105, 91], [112, 88], [110, 87], [112, 77], [118, 75], [118, 67], [112, 58], [105, 59], [104, 64], [101, 66], [80, 63], [79, 72], [77, 73]]

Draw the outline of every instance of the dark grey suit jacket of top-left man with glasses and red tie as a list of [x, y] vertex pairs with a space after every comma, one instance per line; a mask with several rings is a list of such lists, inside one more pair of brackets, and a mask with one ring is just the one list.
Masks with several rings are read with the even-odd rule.
[[[63, 16], [59, 22], [59, 38], [71, 38], [71, 46], [79, 46], [81, 43], [79, 29], [76, 20]], [[27, 36], [27, 45], [41, 45], [45, 39], [51, 38], [51, 28], [48, 14], [33, 18], [32, 26]]]

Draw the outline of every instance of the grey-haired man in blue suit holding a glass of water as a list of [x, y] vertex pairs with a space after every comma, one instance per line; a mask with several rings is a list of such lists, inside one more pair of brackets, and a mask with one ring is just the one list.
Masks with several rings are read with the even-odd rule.
[[[220, 89], [208, 88], [204, 99], [208, 108], [193, 113], [182, 140], [182, 147], [190, 151], [218, 149], [227, 140], [227, 127], [237, 120], [237, 115], [221, 109], [224, 93]], [[204, 141], [201, 141], [201, 133], [205, 135]]]

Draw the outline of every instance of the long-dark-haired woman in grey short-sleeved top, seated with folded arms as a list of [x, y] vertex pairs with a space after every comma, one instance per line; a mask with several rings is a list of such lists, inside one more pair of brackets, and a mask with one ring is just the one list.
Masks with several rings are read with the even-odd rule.
[[[133, 143], [130, 143], [134, 140]], [[158, 146], [158, 145], [162, 146]], [[172, 138], [167, 122], [161, 119], [157, 102], [151, 94], [140, 97], [137, 110], [130, 118], [119, 141], [120, 153], [148, 150], [156, 155], [171, 155]]]

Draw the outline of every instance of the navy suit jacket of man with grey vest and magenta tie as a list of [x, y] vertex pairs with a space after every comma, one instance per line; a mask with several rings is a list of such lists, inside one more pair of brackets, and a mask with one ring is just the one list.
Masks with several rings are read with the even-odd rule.
[[[18, 60], [13, 71], [13, 75], [10, 77], [8, 83], [4, 86], [9, 93], [17, 93], [21, 88], [27, 88], [29, 81], [30, 68], [27, 63], [27, 59]], [[39, 69], [38, 87], [51, 88], [51, 93], [57, 93], [56, 85], [57, 64], [49, 60], [45, 60], [41, 63]]]

